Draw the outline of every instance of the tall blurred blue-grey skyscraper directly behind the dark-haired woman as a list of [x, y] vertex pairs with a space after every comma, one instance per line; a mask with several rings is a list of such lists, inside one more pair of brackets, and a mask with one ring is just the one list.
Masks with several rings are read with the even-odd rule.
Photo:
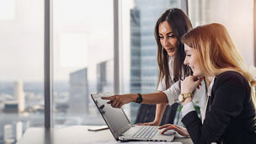
[[[167, 8], [178, 7], [177, 0], [136, 0], [131, 9], [131, 93], [153, 93], [157, 89], [157, 44], [154, 27]], [[131, 104], [131, 121], [137, 105]]]

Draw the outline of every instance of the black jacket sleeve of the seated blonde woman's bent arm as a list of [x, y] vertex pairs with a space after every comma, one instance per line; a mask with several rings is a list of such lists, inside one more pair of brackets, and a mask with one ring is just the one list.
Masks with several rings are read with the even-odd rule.
[[243, 109], [246, 88], [243, 76], [225, 72], [217, 77], [212, 89], [211, 110], [207, 111], [202, 125], [195, 111], [182, 119], [195, 144], [220, 142], [230, 121]]

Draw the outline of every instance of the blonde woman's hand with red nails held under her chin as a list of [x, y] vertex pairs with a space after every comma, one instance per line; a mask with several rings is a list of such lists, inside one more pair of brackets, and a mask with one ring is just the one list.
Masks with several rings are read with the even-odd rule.
[[192, 93], [196, 87], [199, 86], [200, 82], [204, 77], [197, 78], [195, 76], [185, 77], [184, 81], [181, 82], [181, 93]]

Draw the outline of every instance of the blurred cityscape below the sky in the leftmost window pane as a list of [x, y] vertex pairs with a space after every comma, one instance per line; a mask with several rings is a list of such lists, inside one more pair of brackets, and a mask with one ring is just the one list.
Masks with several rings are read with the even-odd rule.
[[43, 83], [0, 83], [0, 143], [16, 143], [30, 126], [44, 126]]

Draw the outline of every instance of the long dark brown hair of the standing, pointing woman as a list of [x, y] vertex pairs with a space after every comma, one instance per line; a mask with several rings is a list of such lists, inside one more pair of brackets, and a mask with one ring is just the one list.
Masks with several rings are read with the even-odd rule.
[[155, 39], [157, 40], [157, 62], [159, 67], [158, 84], [163, 80], [163, 77], [165, 77], [166, 88], [169, 88], [169, 79], [171, 77], [168, 68], [168, 52], [163, 49], [158, 32], [159, 24], [164, 21], [168, 22], [173, 29], [174, 35], [178, 38], [178, 46], [173, 61], [174, 82], [188, 76], [190, 73], [189, 67], [186, 67], [183, 64], [185, 52], [184, 44], [181, 43], [181, 36], [187, 33], [189, 29], [192, 29], [192, 24], [188, 16], [179, 8], [170, 8], [166, 10], [159, 19], [157, 19], [157, 23], [155, 25]]

